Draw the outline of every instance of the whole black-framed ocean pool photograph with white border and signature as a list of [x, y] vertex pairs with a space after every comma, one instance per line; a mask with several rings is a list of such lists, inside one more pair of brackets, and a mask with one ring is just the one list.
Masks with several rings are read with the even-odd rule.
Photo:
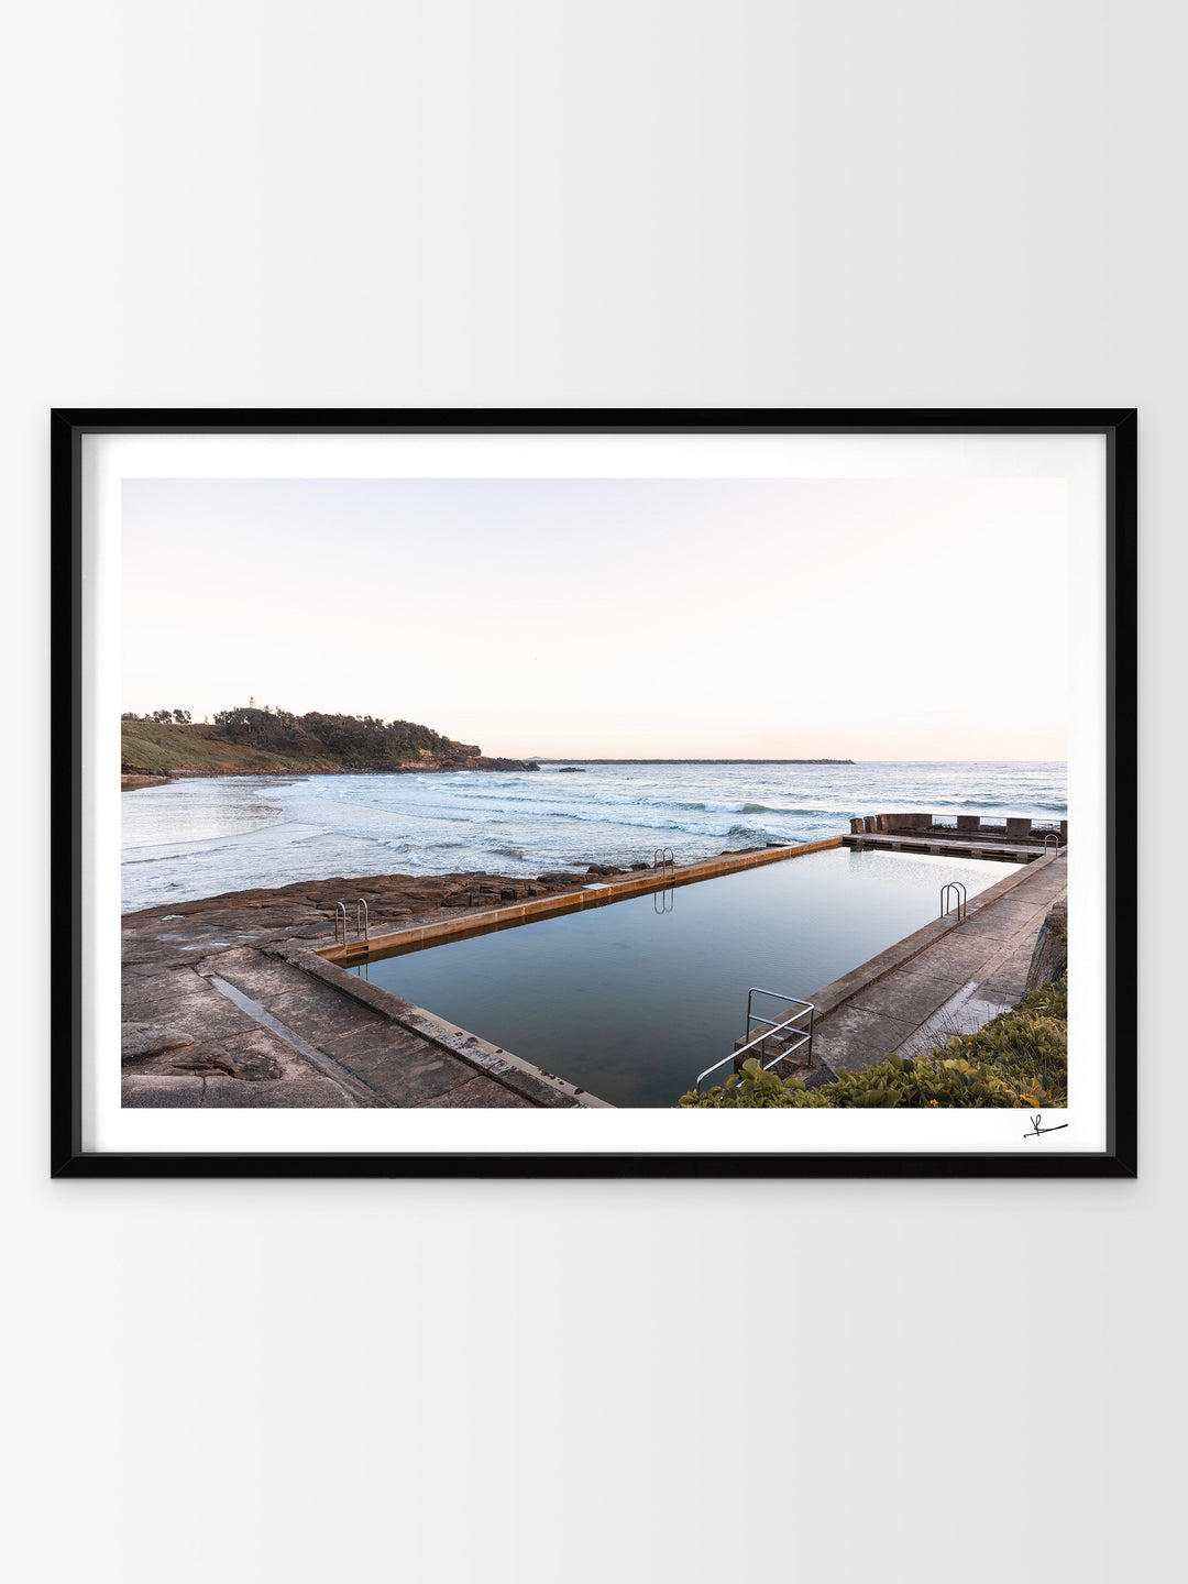
[[1136, 413], [52, 413], [55, 1175], [1136, 1174]]

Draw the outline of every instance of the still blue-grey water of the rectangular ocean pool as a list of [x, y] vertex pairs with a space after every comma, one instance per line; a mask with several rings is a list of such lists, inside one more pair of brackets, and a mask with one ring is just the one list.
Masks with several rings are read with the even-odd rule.
[[[372, 984], [613, 1106], [675, 1106], [746, 1025], [751, 985], [809, 998], [1015, 863], [811, 852], [410, 947]], [[730, 1069], [724, 1068], [724, 1077]]]

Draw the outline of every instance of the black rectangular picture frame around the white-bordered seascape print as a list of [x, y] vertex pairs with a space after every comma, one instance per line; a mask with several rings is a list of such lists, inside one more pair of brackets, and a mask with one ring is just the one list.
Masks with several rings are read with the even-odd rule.
[[[51, 906], [73, 961], [82, 928], [82, 442], [90, 434], [1098, 434], [1106, 440], [1107, 860], [1102, 1152], [505, 1155], [87, 1153], [79, 974], [54, 979], [54, 1177], [1134, 1177], [1137, 1174], [1137, 413], [1134, 409], [375, 410], [55, 409], [51, 413]], [[68, 920], [68, 931], [63, 922]]]

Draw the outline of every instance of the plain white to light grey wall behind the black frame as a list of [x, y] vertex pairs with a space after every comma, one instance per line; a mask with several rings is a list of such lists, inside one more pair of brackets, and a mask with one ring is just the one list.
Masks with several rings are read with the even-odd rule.
[[52, 404], [1137, 404], [1147, 700], [1139, 1183], [51, 1183], [48, 965], [10, 966], [0, 1552], [22, 1584], [1164, 1576], [1185, 1356], [1183, 1038], [1156, 928], [1182, 855], [1155, 851], [1185, 771], [1171, 13], [10, 11], [19, 941], [25, 901], [44, 941], [63, 840]]

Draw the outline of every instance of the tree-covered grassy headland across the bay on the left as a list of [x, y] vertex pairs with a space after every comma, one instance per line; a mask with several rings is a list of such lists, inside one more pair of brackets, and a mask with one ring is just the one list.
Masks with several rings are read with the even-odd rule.
[[369, 714], [293, 714], [255, 705], [193, 722], [185, 710], [125, 714], [125, 775], [274, 775], [284, 771], [527, 770], [527, 760], [488, 759], [415, 721]]

